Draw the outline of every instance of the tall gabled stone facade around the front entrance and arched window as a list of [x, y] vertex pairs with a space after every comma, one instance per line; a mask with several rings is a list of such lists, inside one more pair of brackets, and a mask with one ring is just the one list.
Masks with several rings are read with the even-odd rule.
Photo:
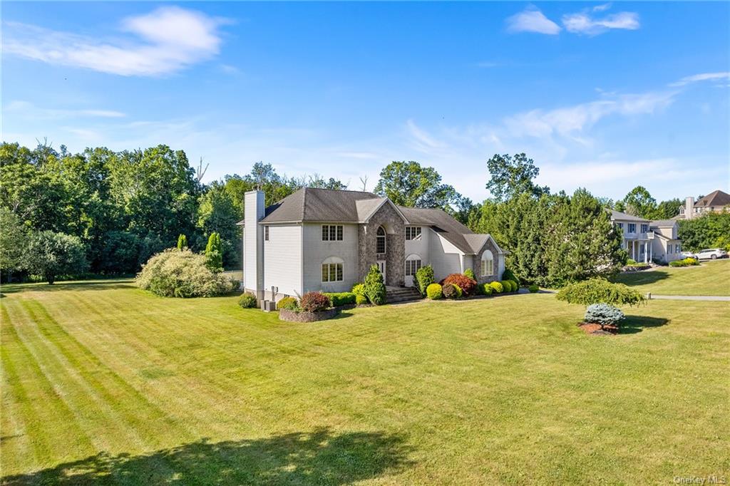
[[[385, 255], [376, 250], [377, 228], [385, 228]], [[376, 261], [385, 260], [385, 285], [404, 285], [405, 223], [392, 204], [386, 202], [375, 212], [367, 224], [358, 228], [358, 269], [360, 282]]]

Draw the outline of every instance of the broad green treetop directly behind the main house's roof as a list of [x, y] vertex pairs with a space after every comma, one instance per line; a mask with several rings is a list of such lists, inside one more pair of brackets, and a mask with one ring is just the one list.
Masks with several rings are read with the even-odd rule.
[[415, 161], [393, 161], [385, 166], [380, 171], [375, 193], [401, 206], [442, 209], [460, 197], [453, 187], [441, 182], [436, 169], [422, 167]]

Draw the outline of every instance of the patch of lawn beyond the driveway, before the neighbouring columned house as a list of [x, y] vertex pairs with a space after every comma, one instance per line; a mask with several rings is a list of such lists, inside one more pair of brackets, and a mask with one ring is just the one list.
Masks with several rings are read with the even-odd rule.
[[666, 296], [730, 296], [730, 260], [620, 274], [615, 282]]

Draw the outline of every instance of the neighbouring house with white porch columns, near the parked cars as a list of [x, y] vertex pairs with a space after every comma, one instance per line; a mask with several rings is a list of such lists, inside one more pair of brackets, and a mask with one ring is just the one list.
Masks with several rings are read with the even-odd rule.
[[669, 263], [682, 258], [682, 242], [677, 238], [676, 220], [645, 220], [610, 209], [611, 221], [621, 233], [621, 247], [629, 258], [649, 263]]

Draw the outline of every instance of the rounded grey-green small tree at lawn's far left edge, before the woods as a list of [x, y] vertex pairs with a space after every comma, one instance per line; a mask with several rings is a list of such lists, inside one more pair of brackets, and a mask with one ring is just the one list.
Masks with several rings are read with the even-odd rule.
[[77, 275], [88, 269], [85, 249], [78, 236], [54, 231], [32, 234], [26, 252], [26, 266], [53, 284], [59, 275]]

